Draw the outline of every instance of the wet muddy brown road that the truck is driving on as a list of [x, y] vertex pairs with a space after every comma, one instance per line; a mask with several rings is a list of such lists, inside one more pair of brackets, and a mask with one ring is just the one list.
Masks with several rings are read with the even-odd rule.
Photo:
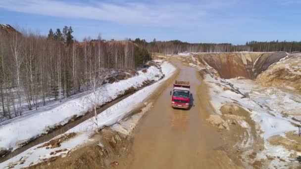
[[205, 122], [213, 109], [197, 70], [177, 59], [171, 62], [180, 69], [177, 79], [190, 81], [194, 106], [190, 110], [172, 109], [170, 84], [141, 120], [134, 134], [132, 153], [118, 168], [238, 168], [221, 150], [220, 133]]

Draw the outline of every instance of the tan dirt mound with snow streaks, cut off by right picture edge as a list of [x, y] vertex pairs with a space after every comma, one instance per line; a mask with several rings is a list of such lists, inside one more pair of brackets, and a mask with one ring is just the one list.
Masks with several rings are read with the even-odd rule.
[[291, 86], [301, 91], [301, 55], [290, 54], [258, 75], [264, 86]]

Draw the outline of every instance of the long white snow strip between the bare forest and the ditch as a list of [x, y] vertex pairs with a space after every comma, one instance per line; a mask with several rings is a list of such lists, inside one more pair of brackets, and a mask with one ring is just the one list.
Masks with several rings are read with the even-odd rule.
[[[166, 64], [167, 63], [163, 63], [162, 65], [164, 66]], [[103, 96], [100, 100], [100, 105], [117, 98], [131, 87], [138, 88], [145, 82], [158, 81], [163, 77], [162, 72], [153, 66], [151, 66], [146, 73], [142, 71], [138, 71], [138, 73], [139, 75], [127, 80], [113, 84], [105, 84], [104, 93], [101, 87], [101, 89], [98, 90], [100, 95]], [[90, 93], [90, 95], [93, 95], [93, 93]], [[89, 109], [91, 109], [91, 102], [85, 96], [82, 96], [68, 99], [68, 101], [49, 110], [31, 116], [25, 116], [24, 118], [19, 117], [15, 121], [0, 127], [0, 147], [14, 150], [20, 147], [20, 144], [38, 137], [43, 133], [47, 133], [50, 128], [68, 123], [72, 117], [84, 115]], [[117, 117], [114, 116], [112, 118]], [[120, 116], [119, 118], [123, 117]], [[114, 120], [111, 122], [113, 123]], [[11, 134], [12, 132], [14, 134]]]

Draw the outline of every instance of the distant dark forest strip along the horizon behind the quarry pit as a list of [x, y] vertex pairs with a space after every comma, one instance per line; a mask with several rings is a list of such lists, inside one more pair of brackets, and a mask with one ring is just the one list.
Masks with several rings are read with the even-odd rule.
[[188, 43], [179, 40], [174, 41], [156, 41], [147, 42], [136, 38], [130, 40], [141, 47], [147, 48], [150, 52], [163, 54], [175, 54], [180, 52], [238, 52], [238, 51], [301, 51], [301, 42], [247, 42], [244, 45], [234, 45], [232, 43]]

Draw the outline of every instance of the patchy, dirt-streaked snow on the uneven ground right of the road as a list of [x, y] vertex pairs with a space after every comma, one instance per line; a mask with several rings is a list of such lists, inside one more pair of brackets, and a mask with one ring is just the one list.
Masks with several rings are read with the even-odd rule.
[[[204, 68], [190, 63], [190, 66], [199, 70], [211, 69], [208, 65]], [[289, 162], [290, 154], [295, 152], [282, 146], [270, 145], [267, 139], [273, 135], [284, 136], [285, 132], [298, 130], [298, 127], [292, 123], [297, 125], [301, 125], [301, 123], [292, 120], [292, 118], [301, 119], [301, 95], [299, 92], [289, 90], [286, 87], [263, 87], [254, 81], [241, 78], [224, 80], [217, 77], [213, 78], [207, 74], [204, 80], [209, 85], [211, 105], [217, 114], [221, 115], [220, 108], [225, 104], [237, 104], [250, 113], [251, 119], [256, 123], [257, 133], [264, 139], [264, 149], [257, 153], [255, 160], [266, 159], [266, 155], [270, 155], [279, 156]], [[224, 87], [231, 90], [224, 90]], [[240, 122], [240, 125], [246, 128], [248, 135], [251, 135], [251, 127], [245, 121]], [[252, 142], [253, 138], [249, 137], [248, 140], [245, 139], [237, 145], [246, 147], [251, 146]], [[249, 159], [248, 153], [251, 154], [252, 152], [245, 152], [247, 161]], [[269, 164], [269, 167], [285, 167], [283, 165], [286, 163], [274, 160]]]

